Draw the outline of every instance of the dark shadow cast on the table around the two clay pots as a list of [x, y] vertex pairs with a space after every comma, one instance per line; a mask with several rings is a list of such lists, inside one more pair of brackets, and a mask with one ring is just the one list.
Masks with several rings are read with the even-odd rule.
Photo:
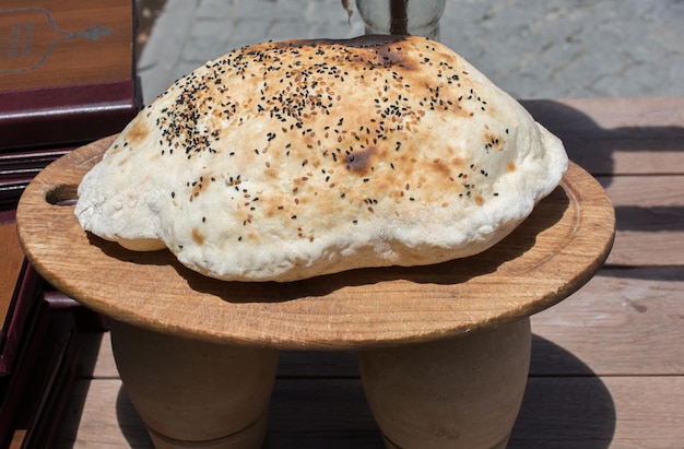
[[[384, 448], [357, 373], [347, 353], [282, 352], [264, 448]], [[152, 447], [122, 388], [117, 417], [131, 447]], [[508, 448], [604, 449], [615, 422], [611, 393], [591, 368], [533, 335], [530, 377]]]

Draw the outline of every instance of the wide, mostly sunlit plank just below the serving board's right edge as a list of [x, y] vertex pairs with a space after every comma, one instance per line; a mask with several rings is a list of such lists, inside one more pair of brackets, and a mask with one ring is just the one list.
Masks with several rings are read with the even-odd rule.
[[684, 375], [684, 268], [602, 270], [532, 317], [532, 376]]

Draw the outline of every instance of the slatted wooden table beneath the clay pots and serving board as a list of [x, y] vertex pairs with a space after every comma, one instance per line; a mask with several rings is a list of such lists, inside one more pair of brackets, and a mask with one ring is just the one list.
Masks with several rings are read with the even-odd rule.
[[[684, 102], [526, 105], [608, 188], [617, 206], [617, 239], [599, 276], [532, 318], [530, 377], [509, 447], [676, 447], [684, 427], [676, 304]], [[92, 357], [61, 440], [150, 447], [102, 336], [85, 340]], [[284, 351], [278, 373], [267, 447], [382, 445], [351, 353]]]

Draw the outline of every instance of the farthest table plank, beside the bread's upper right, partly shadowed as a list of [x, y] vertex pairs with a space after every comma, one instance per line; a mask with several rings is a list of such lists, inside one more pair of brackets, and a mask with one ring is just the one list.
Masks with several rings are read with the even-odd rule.
[[594, 175], [684, 174], [684, 98], [522, 103]]

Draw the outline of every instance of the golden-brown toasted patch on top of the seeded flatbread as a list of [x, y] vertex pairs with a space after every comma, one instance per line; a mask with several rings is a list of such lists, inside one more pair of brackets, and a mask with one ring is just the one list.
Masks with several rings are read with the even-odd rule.
[[[231, 139], [232, 126], [268, 117], [269, 126], [249, 142], [255, 153], [250, 156], [253, 163], [262, 165], [267, 177], [280, 178], [278, 167], [287, 164], [293, 186], [292, 194], [286, 194], [291, 198], [259, 197], [260, 206], [270, 214], [281, 205], [282, 214], [296, 214], [298, 208], [293, 205], [311, 201], [311, 196], [322, 194], [326, 188], [340, 197], [344, 194], [344, 203], [365, 201], [373, 197], [365, 192], [374, 190], [411, 201], [417, 199], [417, 189], [422, 189], [421, 201], [434, 202], [455, 187], [459, 194], [484, 201], [475, 182], [456, 181], [482, 177], [486, 167], [479, 166], [473, 172], [474, 167], [463, 166], [459, 159], [425, 157], [422, 146], [431, 132], [421, 128], [426, 115], [474, 117], [487, 111], [487, 102], [464, 78], [463, 70], [455, 67], [453, 54], [438, 51], [427, 40], [422, 44], [423, 50], [408, 48], [418, 46], [399, 38], [364, 37], [249, 47], [208, 66], [201, 81], [191, 79], [191, 83], [179, 84], [178, 101], [161, 117], [158, 127], [169, 152], [180, 141], [180, 147], [191, 158], [197, 153], [215, 151], [213, 144], [224, 135]], [[409, 51], [418, 55], [409, 57]], [[302, 54], [310, 55], [306, 66], [300, 64], [306, 61]], [[436, 71], [437, 76], [432, 76], [434, 70], [416, 70], [421, 64], [438, 64], [441, 69]], [[226, 67], [232, 69], [231, 76], [243, 78], [239, 88], [250, 96], [231, 101], [234, 96], [225, 90], [222, 76], [228, 72]], [[447, 88], [450, 85], [456, 88]], [[232, 120], [233, 111], [239, 107], [244, 109], [238, 120]], [[246, 114], [245, 108], [251, 111]], [[199, 111], [210, 115], [208, 129], [214, 133], [198, 132], [203, 119]], [[415, 133], [422, 139], [412, 139]], [[493, 150], [500, 149], [505, 130], [491, 131], [486, 138]], [[244, 145], [239, 147], [240, 143], [232, 144], [243, 153], [250, 152]], [[450, 153], [458, 154], [456, 150]], [[300, 163], [298, 173], [292, 173], [293, 164], [287, 159]], [[321, 165], [329, 167], [323, 176], [327, 182], [318, 176], [322, 174]], [[344, 182], [339, 181], [341, 176]], [[192, 189], [190, 201], [201, 193], [198, 186]], [[335, 196], [327, 197], [338, 201]]]

